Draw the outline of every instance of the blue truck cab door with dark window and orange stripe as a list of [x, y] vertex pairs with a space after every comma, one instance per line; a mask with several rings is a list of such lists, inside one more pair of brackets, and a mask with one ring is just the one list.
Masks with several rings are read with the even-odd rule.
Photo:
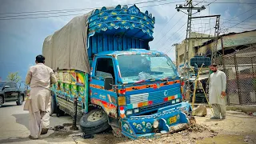
[[117, 94], [115, 90], [104, 90], [104, 78], [114, 78], [117, 83], [117, 70], [112, 57], [95, 58], [90, 83], [90, 100], [92, 103], [102, 106], [106, 114], [118, 118]]

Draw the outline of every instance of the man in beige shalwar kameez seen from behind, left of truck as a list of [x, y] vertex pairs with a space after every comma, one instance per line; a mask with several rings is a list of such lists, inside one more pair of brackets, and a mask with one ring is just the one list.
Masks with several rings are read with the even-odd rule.
[[45, 66], [45, 57], [38, 55], [36, 65], [31, 66], [26, 75], [26, 84], [30, 85], [30, 97], [24, 110], [30, 114], [30, 136], [38, 139], [40, 134], [48, 132], [50, 124], [50, 85], [57, 82], [54, 71]]

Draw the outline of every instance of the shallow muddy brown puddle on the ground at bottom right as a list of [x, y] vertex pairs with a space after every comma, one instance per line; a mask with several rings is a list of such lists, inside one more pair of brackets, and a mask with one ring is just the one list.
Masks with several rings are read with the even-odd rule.
[[243, 141], [244, 136], [241, 135], [219, 135], [214, 138], [205, 138], [197, 142], [197, 144], [222, 144], [222, 143], [232, 143], [232, 144], [242, 144], [246, 143]]

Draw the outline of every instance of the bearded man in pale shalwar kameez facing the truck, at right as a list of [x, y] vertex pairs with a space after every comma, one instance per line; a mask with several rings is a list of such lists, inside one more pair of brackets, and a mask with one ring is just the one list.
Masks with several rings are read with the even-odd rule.
[[209, 101], [214, 110], [211, 119], [226, 118], [226, 74], [217, 69], [216, 64], [210, 66], [214, 73], [210, 74]]

